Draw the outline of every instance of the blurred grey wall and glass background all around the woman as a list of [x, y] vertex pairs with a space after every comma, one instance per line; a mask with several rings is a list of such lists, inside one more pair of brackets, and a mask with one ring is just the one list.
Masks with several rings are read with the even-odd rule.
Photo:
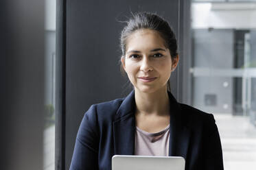
[[178, 38], [178, 101], [214, 114], [224, 169], [256, 167], [256, 1], [0, 2], [0, 169], [69, 169], [91, 104], [125, 97], [119, 35], [130, 12]]

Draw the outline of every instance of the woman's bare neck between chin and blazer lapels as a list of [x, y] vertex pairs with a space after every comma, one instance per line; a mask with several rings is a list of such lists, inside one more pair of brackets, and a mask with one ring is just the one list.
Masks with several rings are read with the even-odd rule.
[[170, 113], [169, 97], [165, 88], [154, 93], [142, 93], [135, 89], [135, 103], [139, 114], [163, 116]]

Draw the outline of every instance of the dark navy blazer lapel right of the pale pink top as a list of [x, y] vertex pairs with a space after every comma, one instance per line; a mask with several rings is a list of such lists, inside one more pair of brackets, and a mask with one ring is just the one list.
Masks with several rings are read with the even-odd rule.
[[183, 156], [186, 160], [190, 138], [187, 127], [188, 117], [171, 93], [169, 93], [169, 98], [171, 108], [169, 156]]

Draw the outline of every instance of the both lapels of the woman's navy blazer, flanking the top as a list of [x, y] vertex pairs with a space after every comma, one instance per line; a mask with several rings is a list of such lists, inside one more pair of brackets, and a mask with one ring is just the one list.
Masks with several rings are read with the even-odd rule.
[[[169, 156], [183, 156], [186, 159], [189, 145], [188, 115], [176, 99], [170, 99], [170, 141]], [[135, 91], [124, 99], [113, 121], [115, 154], [133, 155], [135, 150]]]

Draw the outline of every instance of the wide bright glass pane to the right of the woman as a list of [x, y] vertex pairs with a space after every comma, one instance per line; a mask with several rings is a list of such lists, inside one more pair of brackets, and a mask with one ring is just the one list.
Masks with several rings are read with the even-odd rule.
[[192, 105], [214, 114], [226, 170], [256, 167], [255, 5], [191, 3]]

